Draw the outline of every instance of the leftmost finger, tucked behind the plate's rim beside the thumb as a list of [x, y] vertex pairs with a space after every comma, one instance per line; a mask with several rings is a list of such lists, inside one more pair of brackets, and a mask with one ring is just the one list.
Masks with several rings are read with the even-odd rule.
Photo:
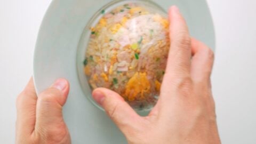
[[36, 121], [36, 101], [33, 78], [30, 78], [29, 83], [17, 98], [17, 131], [28, 135], [33, 132]]

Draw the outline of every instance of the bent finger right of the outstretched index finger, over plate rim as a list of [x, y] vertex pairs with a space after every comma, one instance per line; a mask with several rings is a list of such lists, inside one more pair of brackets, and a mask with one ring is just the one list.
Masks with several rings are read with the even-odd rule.
[[191, 77], [195, 82], [210, 82], [214, 53], [202, 42], [191, 38], [192, 54]]

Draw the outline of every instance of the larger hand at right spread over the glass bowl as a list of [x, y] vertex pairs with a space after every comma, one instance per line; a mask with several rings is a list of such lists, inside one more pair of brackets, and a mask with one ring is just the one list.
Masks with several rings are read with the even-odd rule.
[[169, 19], [169, 59], [159, 100], [150, 114], [139, 116], [108, 89], [94, 90], [93, 98], [129, 143], [221, 143], [210, 82], [213, 52], [190, 38], [177, 7], [170, 9]]

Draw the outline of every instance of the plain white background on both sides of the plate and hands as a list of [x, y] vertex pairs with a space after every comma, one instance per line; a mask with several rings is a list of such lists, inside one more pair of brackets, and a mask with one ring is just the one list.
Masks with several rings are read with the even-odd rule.
[[[222, 143], [256, 143], [256, 1], [207, 0], [217, 37], [213, 94]], [[15, 99], [33, 73], [50, 0], [0, 0], [0, 143], [14, 143]]]

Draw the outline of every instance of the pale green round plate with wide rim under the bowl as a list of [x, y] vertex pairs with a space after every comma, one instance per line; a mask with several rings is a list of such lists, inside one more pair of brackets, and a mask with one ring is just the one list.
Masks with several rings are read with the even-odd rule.
[[[59, 77], [70, 82], [70, 93], [63, 109], [73, 143], [126, 143], [123, 134], [106, 114], [85, 97], [78, 79], [80, 38], [93, 14], [110, 0], [55, 0], [42, 22], [34, 54], [34, 81], [37, 93]], [[167, 11], [177, 5], [187, 20], [190, 34], [215, 47], [214, 28], [205, 0], [155, 0]], [[77, 57], [78, 56], [78, 57]], [[81, 60], [81, 66], [82, 66]]]

